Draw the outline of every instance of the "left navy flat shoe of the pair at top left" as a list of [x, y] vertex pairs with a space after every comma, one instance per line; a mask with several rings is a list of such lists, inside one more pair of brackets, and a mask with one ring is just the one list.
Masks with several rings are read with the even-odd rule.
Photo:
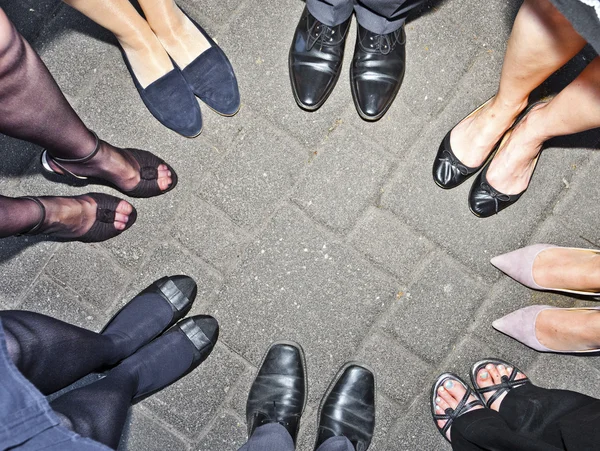
[[198, 136], [202, 131], [200, 106], [177, 65], [173, 63], [172, 71], [142, 88], [123, 49], [121, 53], [148, 111], [161, 124], [180, 135], [188, 138]]

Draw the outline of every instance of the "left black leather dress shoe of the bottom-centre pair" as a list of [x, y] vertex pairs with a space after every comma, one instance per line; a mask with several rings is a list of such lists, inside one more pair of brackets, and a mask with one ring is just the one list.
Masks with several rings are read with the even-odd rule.
[[306, 405], [306, 385], [306, 364], [300, 345], [273, 343], [248, 395], [248, 437], [259, 426], [279, 423], [296, 443], [300, 417]]

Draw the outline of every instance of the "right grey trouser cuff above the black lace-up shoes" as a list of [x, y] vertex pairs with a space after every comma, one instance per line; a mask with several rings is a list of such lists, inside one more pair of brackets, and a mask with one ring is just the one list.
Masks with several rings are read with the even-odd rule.
[[[423, 2], [424, 0], [356, 0], [354, 11], [361, 26], [373, 33], [387, 34], [400, 28], [408, 13]], [[321, 21], [318, 17], [317, 19]]]

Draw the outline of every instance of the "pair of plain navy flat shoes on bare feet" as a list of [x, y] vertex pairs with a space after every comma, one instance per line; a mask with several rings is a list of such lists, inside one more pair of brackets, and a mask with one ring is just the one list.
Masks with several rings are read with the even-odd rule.
[[133, 84], [150, 113], [165, 127], [193, 138], [202, 131], [202, 112], [196, 97], [222, 116], [233, 116], [240, 107], [240, 93], [233, 67], [223, 50], [196, 21], [186, 16], [210, 43], [210, 48], [183, 69], [171, 60], [171, 71], [142, 87], [125, 51], [121, 51]]

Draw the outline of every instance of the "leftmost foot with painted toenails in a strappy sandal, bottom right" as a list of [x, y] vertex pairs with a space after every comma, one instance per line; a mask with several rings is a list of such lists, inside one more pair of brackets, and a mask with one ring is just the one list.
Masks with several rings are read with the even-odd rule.
[[[436, 382], [437, 385], [437, 382]], [[459, 381], [458, 378], [455, 378], [451, 375], [442, 379], [441, 384], [436, 391], [436, 397], [434, 401], [434, 415], [452, 415], [449, 413], [448, 409], [452, 409], [452, 413], [455, 413], [455, 409], [461, 403], [465, 395], [467, 394], [467, 388], [463, 385], [463, 382]], [[464, 411], [458, 412], [458, 415], [455, 418], [458, 418], [460, 415], [464, 415], [465, 413], [471, 412], [472, 410], [483, 409], [483, 405], [481, 401], [474, 395], [471, 394], [467, 401], [464, 403], [465, 407], [463, 407]], [[469, 406], [469, 404], [471, 404]], [[436, 419], [436, 424], [438, 430], [441, 433], [444, 433], [444, 428], [447, 423], [450, 421], [450, 426], [445, 431], [445, 437], [450, 441], [450, 430], [452, 428], [452, 419]], [[434, 417], [435, 419], [435, 417]]]

